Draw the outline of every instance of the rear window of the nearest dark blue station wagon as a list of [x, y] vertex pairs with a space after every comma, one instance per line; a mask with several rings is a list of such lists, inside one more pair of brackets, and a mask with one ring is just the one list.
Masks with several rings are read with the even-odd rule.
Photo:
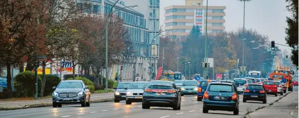
[[213, 92], [233, 92], [233, 86], [227, 84], [210, 84], [208, 91]]

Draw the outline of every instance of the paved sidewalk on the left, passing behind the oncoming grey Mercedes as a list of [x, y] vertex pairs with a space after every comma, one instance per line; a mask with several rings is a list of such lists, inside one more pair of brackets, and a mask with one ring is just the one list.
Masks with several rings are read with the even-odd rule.
[[[91, 101], [98, 101], [104, 99], [113, 99], [114, 93], [95, 93], [91, 94]], [[25, 107], [33, 104], [52, 104], [52, 98], [37, 99], [37, 100], [10, 100], [10, 101], [0, 101], [1, 108], [16, 108]]]

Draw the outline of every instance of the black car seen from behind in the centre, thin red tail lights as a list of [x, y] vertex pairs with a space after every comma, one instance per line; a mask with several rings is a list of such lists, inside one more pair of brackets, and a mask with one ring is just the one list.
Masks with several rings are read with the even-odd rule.
[[173, 81], [153, 80], [143, 88], [142, 108], [151, 106], [181, 109], [181, 95]]

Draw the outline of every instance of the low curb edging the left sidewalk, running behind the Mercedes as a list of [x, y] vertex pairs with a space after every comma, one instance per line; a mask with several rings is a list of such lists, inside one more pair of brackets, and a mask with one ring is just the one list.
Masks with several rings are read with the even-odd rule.
[[[91, 103], [100, 103], [100, 102], [111, 102], [114, 101], [114, 98], [93, 100]], [[73, 105], [73, 104], [64, 104], [64, 105]], [[27, 109], [27, 108], [37, 108], [37, 107], [49, 107], [52, 106], [52, 103], [41, 103], [41, 104], [30, 104], [23, 107], [0, 107], [0, 110], [17, 110], [17, 109]]]

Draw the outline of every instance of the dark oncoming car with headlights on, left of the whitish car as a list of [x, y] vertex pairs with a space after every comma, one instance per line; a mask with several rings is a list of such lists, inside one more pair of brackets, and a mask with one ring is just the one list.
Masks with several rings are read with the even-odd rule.
[[126, 93], [127, 89], [131, 82], [119, 82], [117, 84], [117, 87], [115, 87], [115, 92], [114, 92], [114, 102], [119, 102], [121, 100], [126, 100]]

